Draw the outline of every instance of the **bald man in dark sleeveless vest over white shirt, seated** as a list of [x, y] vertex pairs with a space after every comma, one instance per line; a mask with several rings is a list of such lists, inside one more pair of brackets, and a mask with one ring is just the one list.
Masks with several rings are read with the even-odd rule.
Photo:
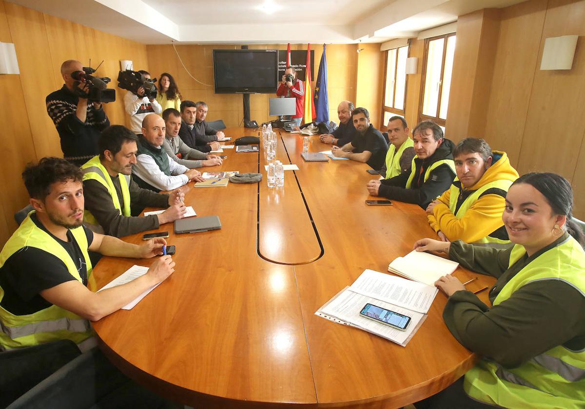
[[137, 185], [160, 192], [176, 189], [189, 181], [202, 182], [201, 172], [178, 164], [161, 148], [165, 132], [166, 125], [159, 115], [150, 113], [144, 117], [142, 135], [136, 144], [136, 165], [132, 167]]

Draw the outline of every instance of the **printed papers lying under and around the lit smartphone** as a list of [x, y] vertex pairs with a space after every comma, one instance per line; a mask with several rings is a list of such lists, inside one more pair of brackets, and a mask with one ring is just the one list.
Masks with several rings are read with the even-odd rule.
[[[426, 319], [437, 292], [435, 287], [422, 283], [365, 270], [350, 287], [345, 287], [327, 301], [315, 315], [406, 346]], [[411, 322], [405, 331], [401, 331], [365, 318], [360, 311], [367, 303], [411, 317]]]

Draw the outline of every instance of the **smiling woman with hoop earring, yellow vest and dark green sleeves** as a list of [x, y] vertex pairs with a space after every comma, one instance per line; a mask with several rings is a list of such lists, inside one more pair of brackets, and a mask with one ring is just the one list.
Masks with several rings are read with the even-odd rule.
[[506, 197], [502, 219], [512, 247], [415, 243], [417, 251], [446, 252], [497, 278], [491, 307], [453, 276], [435, 283], [449, 297], [445, 324], [483, 358], [417, 408], [585, 408], [585, 252], [572, 206], [565, 178], [527, 174]]

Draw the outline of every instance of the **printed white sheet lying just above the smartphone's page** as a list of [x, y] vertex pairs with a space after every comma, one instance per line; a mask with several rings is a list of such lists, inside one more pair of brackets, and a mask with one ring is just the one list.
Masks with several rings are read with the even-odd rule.
[[438, 292], [435, 286], [373, 270], [365, 270], [349, 288], [364, 296], [425, 314]]

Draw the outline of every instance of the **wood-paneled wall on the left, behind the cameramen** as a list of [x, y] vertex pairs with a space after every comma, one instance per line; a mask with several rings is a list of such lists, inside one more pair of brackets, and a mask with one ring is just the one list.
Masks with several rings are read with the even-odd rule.
[[[119, 60], [133, 60], [146, 67], [146, 46], [0, 0], [0, 41], [14, 43], [20, 75], [0, 75], [4, 104], [0, 121], [5, 149], [0, 161], [3, 192], [0, 198], [0, 245], [16, 229], [13, 214], [28, 202], [20, 177], [27, 162], [53, 155], [62, 157], [59, 135], [47, 115], [45, 97], [61, 88], [61, 63], [69, 59], [92, 67], [112, 78], [116, 88]], [[106, 106], [111, 123], [126, 123], [122, 93], [116, 88], [116, 102]]]

